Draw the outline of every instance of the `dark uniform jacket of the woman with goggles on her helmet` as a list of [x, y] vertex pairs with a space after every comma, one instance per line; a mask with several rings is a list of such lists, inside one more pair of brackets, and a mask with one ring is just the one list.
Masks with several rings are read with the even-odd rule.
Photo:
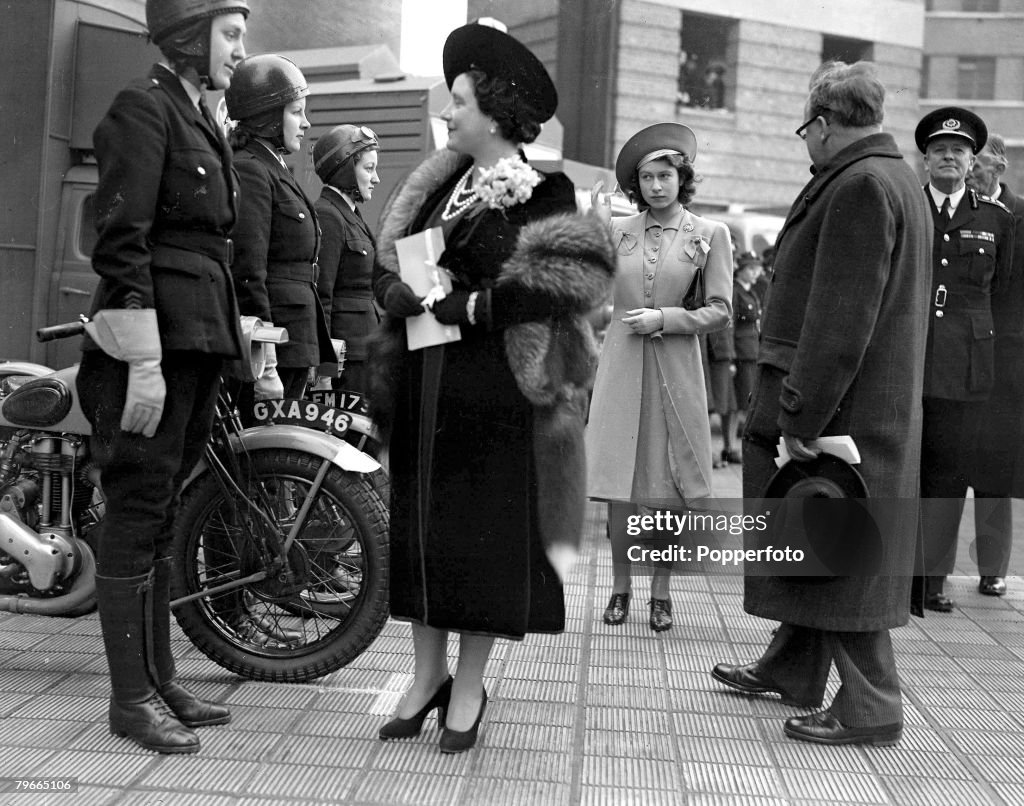
[[380, 324], [372, 277], [377, 246], [370, 227], [335, 188], [325, 185], [313, 205], [319, 217], [319, 293], [331, 335], [344, 339], [346, 357], [367, 357], [367, 337]]

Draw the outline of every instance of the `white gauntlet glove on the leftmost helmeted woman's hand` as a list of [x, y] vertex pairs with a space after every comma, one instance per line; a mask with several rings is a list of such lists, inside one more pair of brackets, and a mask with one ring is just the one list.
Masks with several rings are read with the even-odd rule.
[[167, 396], [167, 386], [160, 371], [163, 352], [157, 311], [154, 308], [98, 310], [85, 330], [103, 352], [128, 364], [128, 390], [121, 430], [153, 436], [164, 414]]

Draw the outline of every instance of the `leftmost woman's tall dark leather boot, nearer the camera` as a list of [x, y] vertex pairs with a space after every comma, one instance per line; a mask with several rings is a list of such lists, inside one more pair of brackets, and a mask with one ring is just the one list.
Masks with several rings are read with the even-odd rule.
[[111, 670], [111, 732], [158, 753], [196, 753], [199, 736], [160, 697], [152, 655], [153, 571], [141, 577], [96, 575], [96, 601]]

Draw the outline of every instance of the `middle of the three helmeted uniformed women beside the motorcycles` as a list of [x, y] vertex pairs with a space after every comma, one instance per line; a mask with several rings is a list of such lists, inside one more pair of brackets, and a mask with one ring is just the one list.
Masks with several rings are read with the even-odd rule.
[[267, 355], [280, 380], [264, 376], [240, 393], [244, 421], [254, 397], [302, 397], [309, 368], [335, 360], [316, 296], [316, 213], [283, 159], [302, 147], [308, 94], [302, 72], [272, 53], [242, 61], [224, 93], [227, 115], [237, 122], [231, 145], [242, 185], [231, 264], [239, 307], [288, 329], [288, 342]]

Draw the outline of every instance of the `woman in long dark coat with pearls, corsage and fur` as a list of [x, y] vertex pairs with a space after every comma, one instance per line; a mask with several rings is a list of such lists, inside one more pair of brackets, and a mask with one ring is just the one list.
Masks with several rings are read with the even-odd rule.
[[[569, 180], [522, 161], [519, 143], [557, 103], [540, 61], [469, 25], [445, 43], [444, 75], [449, 151], [414, 171], [382, 220], [374, 290], [389, 338], [371, 367], [387, 383], [370, 396], [378, 414], [392, 410], [391, 612], [413, 623], [416, 650], [380, 737], [416, 735], [438, 709], [441, 751], [457, 753], [476, 740], [495, 637], [564, 627], [559, 572], [582, 526], [596, 356], [582, 314], [607, 295], [613, 262], [604, 227], [575, 214]], [[517, 177], [518, 195], [498, 198], [498, 174]], [[425, 301], [399, 279], [394, 242], [433, 226], [453, 275], [433, 314], [462, 336], [411, 352], [402, 317]], [[449, 631], [462, 636], [454, 680]]]

